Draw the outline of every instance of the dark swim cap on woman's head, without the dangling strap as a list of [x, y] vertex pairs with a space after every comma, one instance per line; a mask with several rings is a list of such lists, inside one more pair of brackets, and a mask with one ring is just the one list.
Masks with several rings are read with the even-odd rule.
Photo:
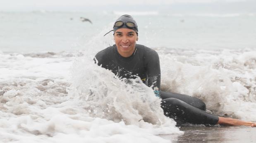
[[[120, 26], [120, 27], [117, 27], [117, 26], [115, 26], [115, 23], [116, 23], [117, 21], [122, 21], [122, 22], [124, 22], [124, 24], [123, 24], [122, 26]], [[127, 27], [127, 24], [125, 24], [125, 23], [127, 23], [127, 22], [132, 22], [132, 23], [134, 23], [134, 27], [133, 27], [133, 28]], [[115, 31], [116, 31], [117, 29], [120, 29], [120, 28], [129, 28], [129, 29], [134, 30], [134, 31], [138, 34], [138, 31], [139, 31], [139, 30], [138, 30], [137, 23], [136, 23], [136, 21], [132, 18], [132, 16], [130, 16], [130, 15], [125, 14], [125, 15], [120, 16], [120, 17], [115, 21], [115, 23], [114, 23], [114, 27], [113, 27], [114, 33], [115, 33]]]

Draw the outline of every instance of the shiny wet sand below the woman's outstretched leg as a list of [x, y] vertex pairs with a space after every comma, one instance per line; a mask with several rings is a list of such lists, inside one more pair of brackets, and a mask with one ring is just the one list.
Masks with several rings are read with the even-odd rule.
[[172, 143], [256, 143], [256, 127], [181, 127], [183, 135], [159, 135]]

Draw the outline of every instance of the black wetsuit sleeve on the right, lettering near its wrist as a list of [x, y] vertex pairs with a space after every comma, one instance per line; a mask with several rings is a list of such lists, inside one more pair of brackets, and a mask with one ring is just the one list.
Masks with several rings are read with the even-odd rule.
[[148, 86], [153, 88], [157, 97], [160, 97], [160, 81], [161, 81], [161, 71], [160, 71], [160, 62], [159, 56], [156, 51], [152, 50], [148, 54], [148, 63], [147, 63], [147, 75], [148, 75]]

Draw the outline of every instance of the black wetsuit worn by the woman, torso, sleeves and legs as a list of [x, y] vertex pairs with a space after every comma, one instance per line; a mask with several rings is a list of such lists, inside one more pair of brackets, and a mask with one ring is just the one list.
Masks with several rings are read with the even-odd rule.
[[[218, 116], [207, 113], [206, 105], [198, 98], [184, 94], [160, 91], [160, 63], [155, 50], [136, 44], [132, 56], [123, 57], [116, 45], [103, 49], [94, 58], [98, 66], [111, 70], [120, 78], [136, 78], [152, 87], [156, 96], [162, 98], [161, 107], [167, 117], [178, 124], [216, 124]], [[134, 76], [136, 75], [136, 76]]]

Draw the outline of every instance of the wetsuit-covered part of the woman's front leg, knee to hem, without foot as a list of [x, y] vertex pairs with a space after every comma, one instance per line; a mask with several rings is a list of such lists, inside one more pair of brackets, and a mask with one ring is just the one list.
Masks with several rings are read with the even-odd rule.
[[217, 115], [207, 113], [177, 98], [166, 98], [162, 100], [161, 107], [167, 117], [173, 118], [177, 124], [186, 122], [191, 124], [217, 124]]

